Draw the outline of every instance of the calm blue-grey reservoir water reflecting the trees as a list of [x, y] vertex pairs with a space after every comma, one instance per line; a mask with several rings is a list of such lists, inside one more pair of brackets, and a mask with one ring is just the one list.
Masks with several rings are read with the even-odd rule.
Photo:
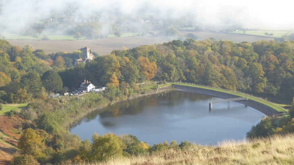
[[71, 127], [70, 132], [88, 139], [112, 132], [132, 134], [149, 145], [178, 144], [188, 140], [196, 144], [217, 144], [224, 139], [244, 139], [263, 113], [237, 102], [213, 104], [221, 98], [192, 92], [171, 91], [117, 103], [88, 114]]

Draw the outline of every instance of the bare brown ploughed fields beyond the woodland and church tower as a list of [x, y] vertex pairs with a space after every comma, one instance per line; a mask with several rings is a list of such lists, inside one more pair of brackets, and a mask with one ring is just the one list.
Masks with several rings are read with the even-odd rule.
[[[220, 33], [220, 32], [196, 32], [196, 31], [182, 31], [183, 34], [193, 33], [198, 36], [198, 40], [214, 37], [217, 40], [230, 40], [233, 42], [247, 41], [249, 43], [258, 40], [273, 40], [272, 37], [253, 36], [234, 33]], [[164, 42], [172, 41], [176, 38], [167, 36], [145, 36], [145, 37], [123, 37], [123, 38], [104, 38], [96, 40], [7, 40], [13, 46], [21, 46], [29, 44], [35, 49], [43, 49], [47, 54], [56, 52], [72, 52], [74, 50], [89, 47], [91, 51], [99, 55], [110, 54], [113, 50], [122, 50], [123, 46], [126, 48], [134, 48], [141, 45], [162, 44]]]

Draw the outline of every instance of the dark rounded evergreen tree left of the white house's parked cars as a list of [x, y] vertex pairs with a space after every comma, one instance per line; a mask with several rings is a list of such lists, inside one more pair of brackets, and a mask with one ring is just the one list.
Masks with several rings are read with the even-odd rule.
[[50, 96], [50, 92], [62, 90], [63, 83], [61, 77], [53, 70], [45, 72], [41, 80], [48, 92], [48, 96]]

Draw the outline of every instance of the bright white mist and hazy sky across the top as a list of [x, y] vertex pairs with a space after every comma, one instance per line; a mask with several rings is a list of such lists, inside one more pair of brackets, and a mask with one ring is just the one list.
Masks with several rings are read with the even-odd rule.
[[12, 30], [25, 28], [36, 18], [49, 16], [52, 10], [78, 6], [77, 15], [89, 16], [93, 11], [118, 10], [136, 15], [146, 6], [145, 14], [160, 11], [157, 17], [175, 17], [193, 14], [206, 23], [265, 24], [270, 28], [292, 29], [294, 19], [291, 1], [232, 1], [232, 0], [0, 0], [0, 26]]

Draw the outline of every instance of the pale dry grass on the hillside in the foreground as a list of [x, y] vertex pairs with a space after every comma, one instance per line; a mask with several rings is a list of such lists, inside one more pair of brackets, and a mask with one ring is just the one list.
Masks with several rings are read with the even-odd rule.
[[[151, 156], [117, 158], [76, 165], [174, 165], [174, 164], [294, 164], [294, 134], [252, 141], [224, 141], [218, 146], [194, 145], [185, 151], [168, 150]], [[65, 163], [69, 165], [71, 163]]]

